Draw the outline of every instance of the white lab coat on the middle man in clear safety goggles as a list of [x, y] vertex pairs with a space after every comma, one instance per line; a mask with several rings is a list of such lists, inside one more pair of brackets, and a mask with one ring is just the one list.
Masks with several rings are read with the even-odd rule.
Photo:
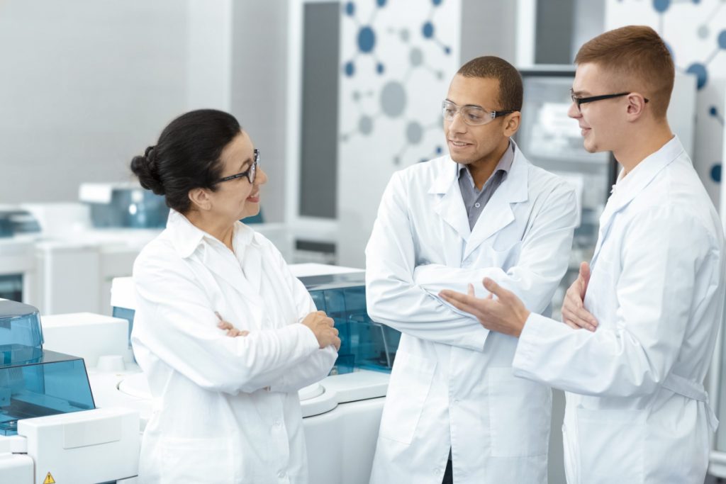
[[[403, 334], [371, 483], [547, 480], [551, 390], [516, 378], [517, 340], [437, 297], [492, 277], [542, 312], [565, 274], [574, 191], [516, 149], [473, 231], [449, 156], [394, 173], [366, 248], [368, 313]], [[483, 288], [481, 289], [483, 291]]]

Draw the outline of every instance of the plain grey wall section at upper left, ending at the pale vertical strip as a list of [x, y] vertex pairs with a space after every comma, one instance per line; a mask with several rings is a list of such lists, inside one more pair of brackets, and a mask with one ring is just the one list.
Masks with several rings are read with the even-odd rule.
[[1, 1], [0, 203], [130, 179], [184, 109], [187, 28], [177, 0]]

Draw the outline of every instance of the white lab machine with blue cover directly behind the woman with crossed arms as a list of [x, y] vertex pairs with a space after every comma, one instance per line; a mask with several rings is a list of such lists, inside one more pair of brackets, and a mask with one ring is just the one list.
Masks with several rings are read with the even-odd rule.
[[[322, 264], [290, 267], [317, 307], [335, 319], [342, 340], [330, 376], [299, 392], [310, 482], [367, 483], [400, 335], [368, 318], [362, 271]], [[112, 291], [114, 314], [133, 321], [131, 278], [115, 279]], [[110, 337], [109, 326], [95, 334], [100, 337], [103, 331]], [[121, 333], [114, 335], [118, 338]], [[128, 337], [123, 345], [128, 345]], [[89, 380], [99, 408], [139, 411], [143, 429], [150, 415], [150, 390], [136, 364], [118, 356], [113, 364], [91, 366]]]

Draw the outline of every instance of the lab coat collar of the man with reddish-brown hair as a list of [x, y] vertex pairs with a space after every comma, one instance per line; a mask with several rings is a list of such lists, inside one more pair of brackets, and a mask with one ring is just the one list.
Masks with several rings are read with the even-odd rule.
[[597, 255], [600, 253], [600, 248], [603, 247], [603, 242], [608, 236], [616, 213], [624, 210], [640, 192], [643, 192], [643, 189], [656, 178], [656, 175], [663, 168], [666, 168], [666, 166], [683, 155], [683, 152], [684, 149], [680, 139], [678, 139], [678, 136], [673, 136], [661, 149], [648, 155], [643, 161], [638, 163], [627, 176], [623, 176], [623, 172], [620, 172], [618, 181], [613, 185], [613, 193], [608, 199], [607, 205], [605, 205], [603, 214], [600, 216], [600, 234], [597, 237], [597, 245], [595, 246], [595, 253], [592, 255], [590, 265], [594, 265], [595, 261], [597, 261]]

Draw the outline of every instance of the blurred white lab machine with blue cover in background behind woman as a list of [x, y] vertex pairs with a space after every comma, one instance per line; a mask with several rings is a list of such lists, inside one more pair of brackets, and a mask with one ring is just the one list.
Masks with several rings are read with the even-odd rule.
[[[6, 288], [16, 299], [22, 287], [23, 300], [43, 314], [110, 315], [111, 281], [131, 276], [136, 257], [166, 226], [169, 209], [163, 197], [130, 182], [81, 184], [78, 197], [15, 207], [37, 222], [32, 234], [7, 234], [0, 217], [0, 297]], [[290, 261], [292, 239], [283, 223], [254, 227]]]

